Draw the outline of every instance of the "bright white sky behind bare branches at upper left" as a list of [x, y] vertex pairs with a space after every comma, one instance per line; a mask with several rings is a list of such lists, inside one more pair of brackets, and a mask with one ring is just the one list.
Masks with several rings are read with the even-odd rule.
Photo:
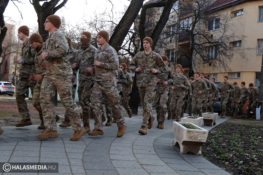
[[[4, 20], [6, 23], [19, 26], [27, 25], [29, 28], [38, 26], [37, 13], [29, 0], [20, 0], [23, 3], [15, 2], [19, 11], [22, 13], [23, 19], [12, 1], [9, 1], [4, 12]], [[128, 0], [110, 0], [113, 3], [113, 13], [117, 15], [124, 10], [124, 6], [129, 6]], [[64, 16], [65, 21], [70, 24], [83, 22], [83, 19], [88, 20], [94, 13], [101, 13], [105, 10], [111, 10], [112, 4], [109, 0], [68, 0], [65, 7], [60, 8], [55, 15]]]

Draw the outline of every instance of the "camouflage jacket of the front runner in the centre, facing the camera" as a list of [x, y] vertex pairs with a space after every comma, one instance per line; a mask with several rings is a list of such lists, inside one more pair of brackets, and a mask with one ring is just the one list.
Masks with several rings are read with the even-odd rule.
[[[140, 72], [136, 72], [138, 87], [156, 86], [157, 74], [164, 73], [166, 69], [161, 56], [153, 51], [148, 56], [144, 51], [137, 53], [131, 60], [129, 69], [135, 72], [137, 67], [141, 68]], [[156, 69], [158, 73], [153, 73], [152, 68]]]

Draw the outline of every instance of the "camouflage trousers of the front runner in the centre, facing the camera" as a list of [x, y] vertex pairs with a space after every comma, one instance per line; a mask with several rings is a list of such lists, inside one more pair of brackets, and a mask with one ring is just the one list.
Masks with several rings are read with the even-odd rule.
[[143, 122], [141, 126], [147, 127], [148, 120], [152, 117], [153, 100], [155, 97], [155, 86], [138, 87], [143, 106]]

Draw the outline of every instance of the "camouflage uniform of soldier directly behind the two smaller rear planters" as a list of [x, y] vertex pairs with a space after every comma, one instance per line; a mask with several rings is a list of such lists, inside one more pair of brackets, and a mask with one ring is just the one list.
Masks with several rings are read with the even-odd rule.
[[[202, 115], [202, 107], [204, 103], [205, 92], [208, 90], [205, 81], [201, 78], [196, 81], [194, 79], [190, 86], [190, 94], [193, 94], [192, 98], [192, 112], [193, 116], [197, 114]], [[198, 95], [198, 91], [202, 91], [201, 95]]]

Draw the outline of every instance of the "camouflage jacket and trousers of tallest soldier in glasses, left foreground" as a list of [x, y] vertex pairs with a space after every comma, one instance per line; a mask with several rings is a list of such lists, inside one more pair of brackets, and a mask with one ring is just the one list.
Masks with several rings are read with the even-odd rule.
[[40, 105], [44, 117], [44, 125], [49, 130], [57, 130], [53, 97], [55, 89], [61, 103], [68, 110], [71, 126], [74, 131], [82, 130], [77, 104], [72, 99], [72, 69], [68, 60], [68, 41], [59, 29], [54, 30], [46, 39], [44, 46], [46, 74], [41, 84]]

